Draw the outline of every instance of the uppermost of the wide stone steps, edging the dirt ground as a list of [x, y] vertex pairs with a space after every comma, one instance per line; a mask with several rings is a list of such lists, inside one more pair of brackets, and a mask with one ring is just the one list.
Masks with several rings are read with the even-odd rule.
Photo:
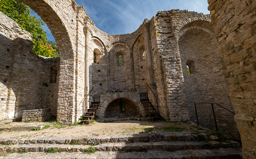
[[[206, 134], [199, 134], [209, 140]], [[205, 136], [206, 135], [206, 136]], [[133, 142], [160, 142], [160, 141], [194, 141], [198, 135], [196, 134], [188, 134], [183, 132], [165, 132], [165, 131], [157, 131], [150, 133], [137, 133], [130, 135], [114, 135], [114, 136], [105, 136], [105, 137], [90, 137], [90, 136], [74, 136], [71, 138], [67, 137], [35, 137], [35, 138], [23, 138], [23, 139], [6, 139], [0, 140], [0, 144], [2, 145], [10, 145], [10, 144], [67, 144], [67, 143], [79, 143], [92, 145], [93, 143], [133, 143]], [[216, 141], [210, 141], [213, 144], [220, 144]], [[232, 147], [240, 148], [240, 144], [235, 141], [231, 141], [230, 144]], [[225, 147], [224, 144], [223, 147]]]

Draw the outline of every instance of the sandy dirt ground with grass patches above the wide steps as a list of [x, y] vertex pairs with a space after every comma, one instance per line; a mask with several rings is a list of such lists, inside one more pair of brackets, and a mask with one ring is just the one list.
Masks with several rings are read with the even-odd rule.
[[123, 133], [140, 133], [151, 131], [180, 131], [189, 133], [206, 132], [207, 128], [201, 128], [197, 125], [173, 122], [148, 122], [148, 121], [118, 121], [109, 123], [92, 123], [90, 125], [64, 125], [56, 122], [32, 122], [21, 123], [11, 122], [1, 124], [0, 127], [13, 126], [40, 126], [50, 125], [49, 128], [44, 128], [38, 131], [1, 131], [0, 139], [10, 138], [26, 138], [26, 137], [72, 137], [72, 136], [108, 136], [118, 135]]

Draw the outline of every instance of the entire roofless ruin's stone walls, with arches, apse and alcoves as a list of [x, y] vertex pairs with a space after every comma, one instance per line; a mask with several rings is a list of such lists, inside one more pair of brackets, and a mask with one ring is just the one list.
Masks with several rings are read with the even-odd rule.
[[50, 28], [60, 58], [35, 55], [31, 34], [0, 12], [0, 120], [34, 112], [29, 120], [70, 124], [97, 103], [99, 121], [151, 113], [215, 129], [214, 108], [243, 157], [255, 155], [256, 1], [208, 0], [208, 15], [158, 11], [123, 35], [98, 29], [74, 0], [20, 1]]

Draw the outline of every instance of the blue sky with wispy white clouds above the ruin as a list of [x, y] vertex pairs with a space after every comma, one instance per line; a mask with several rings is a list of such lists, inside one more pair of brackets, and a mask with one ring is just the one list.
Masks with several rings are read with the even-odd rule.
[[[84, 6], [87, 15], [96, 27], [108, 34], [127, 34], [139, 28], [144, 19], [151, 19], [157, 11], [188, 9], [203, 12], [207, 10], [207, 0], [75, 0]], [[36, 15], [35, 12], [31, 12]], [[55, 42], [47, 26], [48, 40]]]

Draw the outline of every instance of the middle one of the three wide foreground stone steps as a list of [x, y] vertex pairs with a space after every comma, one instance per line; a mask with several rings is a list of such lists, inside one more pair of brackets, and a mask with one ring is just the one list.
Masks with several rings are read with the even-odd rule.
[[[1, 151], [11, 150], [28, 150], [28, 152], [47, 152], [49, 148], [68, 152], [83, 152], [89, 148], [90, 145], [59, 145], [59, 144], [23, 144], [23, 145], [3, 145], [0, 146]], [[235, 145], [230, 143], [207, 143], [196, 141], [161, 141], [161, 142], [134, 142], [134, 143], [104, 143], [92, 146], [97, 151], [126, 151], [126, 150], [187, 150], [187, 149], [218, 149], [218, 148], [236, 148]]]

